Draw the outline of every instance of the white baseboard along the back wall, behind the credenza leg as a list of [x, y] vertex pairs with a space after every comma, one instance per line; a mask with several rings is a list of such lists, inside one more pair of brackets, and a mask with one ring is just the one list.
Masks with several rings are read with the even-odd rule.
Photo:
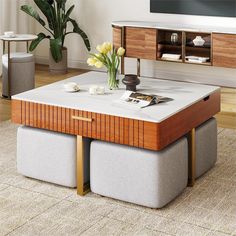
[[[48, 65], [48, 58], [36, 56], [36, 63]], [[104, 68], [95, 69], [94, 67], [88, 66], [84, 60], [69, 59], [68, 66], [70, 68], [105, 71]], [[128, 59], [126, 61], [126, 73], [136, 73], [136, 61], [134, 59]], [[184, 65], [172, 62], [143, 61], [141, 63], [141, 75], [152, 78], [236, 88], [235, 69]]]

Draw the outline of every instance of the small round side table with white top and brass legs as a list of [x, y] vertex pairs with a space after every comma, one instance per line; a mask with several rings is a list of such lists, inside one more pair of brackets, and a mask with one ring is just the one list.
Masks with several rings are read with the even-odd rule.
[[11, 99], [11, 42], [26, 42], [26, 51], [29, 52], [29, 42], [37, 39], [37, 35], [32, 34], [16, 34], [14, 37], [7, 37], [5, 35], [0, 36], [0, 40], [3, 41], [3, 54], [8, 55], [8, 99]]

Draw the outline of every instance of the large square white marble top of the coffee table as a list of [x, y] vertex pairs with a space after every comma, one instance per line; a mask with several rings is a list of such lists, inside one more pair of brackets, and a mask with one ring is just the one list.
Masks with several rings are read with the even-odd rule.
[[[106, 84], [107, 74], [103, 72], [88, 72], [12, 96], [12, 99], [159, 123], [220, 89], [201, 84], [144, 77], [140, 79], [138, 92], [166, 96], [173, 100], [139, 110], [123, 107], [114, 103], [125, 92], [122, 83], [118, 90], [106, 88], [105, 95], [90, 95], [88, 90], [91, 85]], [[65, 92], [63, 84], [70, 81], [79, 84], [81, 90], [76, 93]]]

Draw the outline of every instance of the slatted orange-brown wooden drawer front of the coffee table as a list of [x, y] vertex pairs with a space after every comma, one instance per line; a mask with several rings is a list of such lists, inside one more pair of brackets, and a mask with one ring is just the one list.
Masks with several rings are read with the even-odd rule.
[[[92, 118], [93, 121], [75, 120], [72, 116]], [[130, 124], [135, 122], [143, 125], [144, 122], [117, 116], [12, 100], [12, 121], [40, 129], [143, 147], [143, 137], [139, 140], [138, 130], [134, 132]]]

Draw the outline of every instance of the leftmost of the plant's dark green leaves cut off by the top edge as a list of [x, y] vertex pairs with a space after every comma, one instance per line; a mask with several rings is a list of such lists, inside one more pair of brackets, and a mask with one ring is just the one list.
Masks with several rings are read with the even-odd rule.
[[48, 3], [48, 1], [34, 0], [34, 2], [47, 18], [49, 28], [53, 30], [55, 24], [55, 9], [51, 6], [51, 4]]

